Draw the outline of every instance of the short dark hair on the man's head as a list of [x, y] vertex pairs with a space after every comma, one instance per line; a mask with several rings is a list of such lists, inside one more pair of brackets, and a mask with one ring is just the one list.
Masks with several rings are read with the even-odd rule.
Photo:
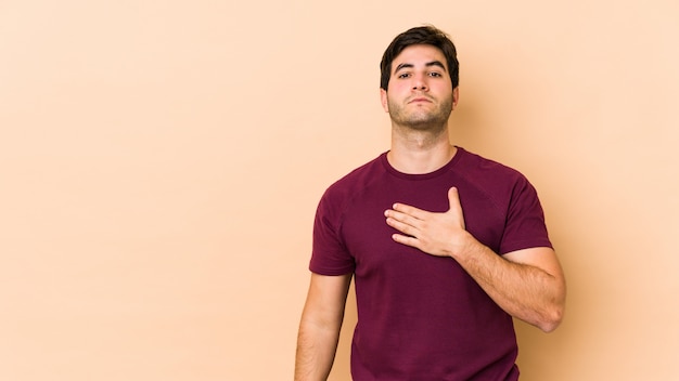
[[457, 88], [460, 82], [460, 63], [458, 63], [458, 51], [450, 40], [450, 37], [448, 37], [448, 35], [443, 30], [432, 25], [408, 29], [394, 38], [389, 47], [384, 51], [382, 62], [380, 63], [380, 70], [382, 71], [380, 88], [386, 90], [389, 84], [389, 79], [392, 78], [392, 62], [394, 58], [396, 58], [406, 48], [417, 44], [432, 45], [444, 52], [444, 56], [446, 57], [446, 62], [448, 64], [448, 71], [450, 74], [452, 88]]

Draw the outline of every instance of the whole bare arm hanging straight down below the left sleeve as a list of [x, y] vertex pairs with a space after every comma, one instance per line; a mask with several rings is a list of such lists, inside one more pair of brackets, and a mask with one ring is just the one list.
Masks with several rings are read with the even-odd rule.
[[337, 350], [350, 281], [351, 274], [311, 274], [297, 336], [295, 381], [328, 379]]

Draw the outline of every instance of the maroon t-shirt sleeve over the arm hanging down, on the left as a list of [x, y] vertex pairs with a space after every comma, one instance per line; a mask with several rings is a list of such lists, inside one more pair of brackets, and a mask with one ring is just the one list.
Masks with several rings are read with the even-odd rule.
[[344, 275], [356, 268], [354, 258], [346, 249], [342, 236], [342, 211], [338, 197], [325, 192], [316, 210], [313, 241], [309, 270], [321, 275]]

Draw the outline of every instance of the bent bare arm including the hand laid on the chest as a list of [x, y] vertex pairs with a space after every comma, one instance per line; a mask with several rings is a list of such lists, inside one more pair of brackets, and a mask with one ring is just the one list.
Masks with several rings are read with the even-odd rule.
[[563, 318], [566, 286], [551, 248], [531, 248], [497, 255], [464, 228], [458, 190], [448, 193], [450, 210], [432, 213], [395, 205], [387, 224], [402, 234], [397, 242], [428, 254], [451, 257], [508, 314], [549, 332]]

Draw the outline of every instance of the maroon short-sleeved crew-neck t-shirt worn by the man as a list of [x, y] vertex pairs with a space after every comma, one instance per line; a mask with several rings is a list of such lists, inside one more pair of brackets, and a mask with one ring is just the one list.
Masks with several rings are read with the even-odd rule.
[[498, 254], [551, 247], [535, 188], [517, 171], [458, 147], [443, 168], [405, 174], [386, 153], [320, 200], [309, 268], [354, 273], [354, 380], [516, 380], [512, 317], [452, 259], [395, 242], [395, 202], [444, 212], [459, 189], [466, 229]]

